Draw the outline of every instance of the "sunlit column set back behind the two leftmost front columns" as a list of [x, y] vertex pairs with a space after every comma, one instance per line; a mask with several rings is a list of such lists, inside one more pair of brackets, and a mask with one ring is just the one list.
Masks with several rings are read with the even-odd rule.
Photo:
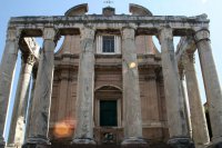
[[34, 63], [33, 55], [22, 56], [20, 78], [17, 87], [16, 100], [9, 129], [8, 146], [21, 147], [24, 128], [26, 105], [29, 95], [29, 83]]

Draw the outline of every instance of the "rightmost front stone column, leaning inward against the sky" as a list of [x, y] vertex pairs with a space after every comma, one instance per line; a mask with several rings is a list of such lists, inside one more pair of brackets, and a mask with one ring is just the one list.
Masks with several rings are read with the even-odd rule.
[[200, 57], [210, 111], [211, 127], [213, 132], [212, 140], [218, 148], [222, 148], [222, 91], [211, 50], [209, 30], [198, 29], [194, 39]]

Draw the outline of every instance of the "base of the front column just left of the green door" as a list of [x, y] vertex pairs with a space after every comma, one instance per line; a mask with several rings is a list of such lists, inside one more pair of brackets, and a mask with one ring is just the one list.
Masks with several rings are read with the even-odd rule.
[[71, 147], [75, 148], [93, 148], [97, 147], [97, 142], [91, 138], [75, 138], [71, 141]]

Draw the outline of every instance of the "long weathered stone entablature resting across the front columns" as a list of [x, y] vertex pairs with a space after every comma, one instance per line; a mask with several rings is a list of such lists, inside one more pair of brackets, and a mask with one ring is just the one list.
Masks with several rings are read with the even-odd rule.
[[9, 27], [16, 27], [23, 31], [26, 37], [40, 37], [42, 29], [53, 27], [60, 34], [79, 34], [80, 28], [90, 26], [95, 30], [117, 29], [133, 27], [137, 34], [158, 34], [159, 29], [170, 27], [173, 29], [173, 36], [188, 36], [194, 28], [209, 28], [210, 20], [206, 14], [196, 17], [184, 16], [128, 16], [115, 14], [104, 17], [101, 14], [88, 16], [53, 16], [53, 17], [17, 17], [11, 18]]

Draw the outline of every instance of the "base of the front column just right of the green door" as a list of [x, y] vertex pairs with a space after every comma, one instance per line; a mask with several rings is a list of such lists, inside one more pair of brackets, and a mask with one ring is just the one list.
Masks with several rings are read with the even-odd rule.
[[149, 148], [148, 142], [143, 138], [130, 137], [121, 142], [123, 148]]

